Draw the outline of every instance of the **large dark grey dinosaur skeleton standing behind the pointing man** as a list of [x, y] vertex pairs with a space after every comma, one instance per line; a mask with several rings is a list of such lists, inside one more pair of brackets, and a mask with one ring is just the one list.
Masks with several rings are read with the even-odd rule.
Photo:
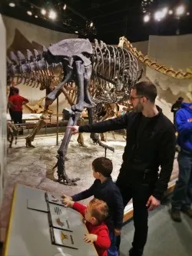
[[[51, 87], [51, 78], [55, 78], [56, 68], [61, 68], [63, 78], [58, 85]], [[88, 109], [89, 122], [92, 123], [94, 100], [102, 103], [115, 102], [118, 94], [114, 89], [129, 95], [132, 86], [141, 78], [138, 71], [137, 58], [123, 48], [105, 45], [103, 42], [92, 46], [87, 39], [65, 39], [48, 48], [44, 48], [42, 55], [35, 50], [35, 55], [28, 50], [27, 58], [22, 52], [11, 52], [8, 60], [8, 81], [17, 79], [17, 84], [25, 84], [46, 88], [45, 111], [61, 91], [65, 93], [65, 86], [75, 83], [77, 85], [77, 102], [71, 107], [71, 116], [68, 126], [76, 125], [84, 108]], [[91, 82], [92, 88], [89, 88]], [[94, 85], [94, 86], [93, 86]], [[93, 101], [91, 100], [90, 90]], [[114, 90], [115, 91], [115, 90]], [[124, 98], [124, 96], [120, 98]], [[43, 116], [43, 115], [42, 115]], [[41, 127], [43, 118], [39, 121]], [[65, 155], [71, 138], [71, 129], [67, 128], [64, 138], [58, 149], [58, 181], [67, 185], [76, 184], [78, 178], [70, 179], [65, 171]], [[94, 141], [96, 135], [91, 134]]]

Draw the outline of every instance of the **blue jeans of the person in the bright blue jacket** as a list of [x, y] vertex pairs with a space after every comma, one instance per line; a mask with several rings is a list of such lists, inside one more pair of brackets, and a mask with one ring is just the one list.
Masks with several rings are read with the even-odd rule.
[[179, 177], [174, 188], [172, 208], [181, 210], [192, 204], [192, 153], [180, 151], [178, 154]]

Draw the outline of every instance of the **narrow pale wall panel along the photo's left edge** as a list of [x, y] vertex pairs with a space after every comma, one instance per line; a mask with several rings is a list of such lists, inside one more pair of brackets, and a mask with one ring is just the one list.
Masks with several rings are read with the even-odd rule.
[[7, 174], [6, 153], [7, 153], [7, 135], [6, 135], [6, 32], [5, 25], [0, 15], [0, 208], [2, 205], [3, 191]]

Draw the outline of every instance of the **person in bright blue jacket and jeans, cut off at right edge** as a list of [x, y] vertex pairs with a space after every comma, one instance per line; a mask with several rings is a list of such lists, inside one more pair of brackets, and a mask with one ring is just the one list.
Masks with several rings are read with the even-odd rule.
[[180, 211], [192, 218], [192, 103], [182, 103], [176, 114], [179, 177], [174, 189], [170, 216], [181, 221]]

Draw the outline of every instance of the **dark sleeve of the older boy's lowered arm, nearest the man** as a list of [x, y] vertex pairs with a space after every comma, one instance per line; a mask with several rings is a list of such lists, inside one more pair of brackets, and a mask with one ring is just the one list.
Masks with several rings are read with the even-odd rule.
[[115, 205], [115, 217], [114, 217], [114, 228], [121, 229], [123, 225], [123, 218], [124, 218], [124, 204], [123, 198], [121, 196], [121, 192], [118, 190], [114, 191], [113, 194], [114, 198], [114, 205]]

